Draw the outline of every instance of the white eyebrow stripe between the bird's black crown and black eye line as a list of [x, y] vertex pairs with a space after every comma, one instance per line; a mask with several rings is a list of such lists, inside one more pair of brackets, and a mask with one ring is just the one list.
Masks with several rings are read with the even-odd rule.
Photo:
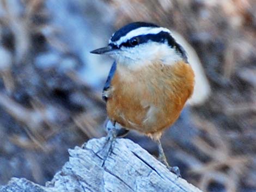
[[118, 41], [112, 42], [109, 40], [109, 44], [121, 45], [121, 43], [126, 42], [131, 39], [133, 36], [138, 35], [147, 35], [147, 34], [158, 34], [160, 32], [170, 33], [170, 30], [164, 27], [140, 27], [135, 30], [131, 30], [131, 32], [127, 33], [125, 36], [122, 36]]

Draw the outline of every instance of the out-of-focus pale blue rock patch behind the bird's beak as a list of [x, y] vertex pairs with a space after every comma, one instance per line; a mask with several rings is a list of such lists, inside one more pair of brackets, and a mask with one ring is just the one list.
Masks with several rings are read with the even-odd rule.
[[76, 75], [88, 85], [98, 88], [105, 81], [112, 61], [89, 52], [108, 44], [113, 33], [110, 24], [114, 19], [112, 9], [99, 0], [64, 0], [58, 3], [48, 0], [46, 5], [52, 15], [51, 23], [60, 32], [58, 37], [83, 64]]

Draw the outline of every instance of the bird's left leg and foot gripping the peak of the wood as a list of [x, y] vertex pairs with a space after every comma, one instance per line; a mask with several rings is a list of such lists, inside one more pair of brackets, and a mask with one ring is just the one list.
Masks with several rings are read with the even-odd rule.
[[111, 127], [107, 127], [107, 141], [105, 143], [105, 145], [103, 146], [103, 148], [105, 148], [107, 145], [107, 153], [105, 155], [105, 157], [103, 158], [103, 163], [101, 166], [104, 166], [105, 165], [105, 162], [108, 158], [108, 156], [111, 154], [112, 150], [113, 150], [113, 142], [115, 140], [115, 138], [117, 137], [117, 131], [115, 129], [115, 122], [113, 123], [113, 126]]

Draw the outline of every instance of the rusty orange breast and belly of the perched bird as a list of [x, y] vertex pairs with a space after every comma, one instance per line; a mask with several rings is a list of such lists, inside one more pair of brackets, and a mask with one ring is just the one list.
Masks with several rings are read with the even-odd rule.
[[193, 70], [184, 61], [155, 63], [137, 71], [117, 65], [107, 113], [127, 129], [161, 137], [162, 131], [178, 119], [193, 87]]

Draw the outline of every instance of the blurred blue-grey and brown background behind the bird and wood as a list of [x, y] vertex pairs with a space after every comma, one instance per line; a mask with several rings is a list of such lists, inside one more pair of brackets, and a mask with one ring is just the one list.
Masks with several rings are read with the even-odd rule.
[[[106, 134], [113, 60], [89, 51], [132, 21], [174, 30], [196, 71], [162, 138], [170, 165], [204, 191], [256, 191], [254, 0], [0, 0], [0, 184], [44, 184], [68, 148]], [[157, 155], [148, 138], [127, 137]]]

